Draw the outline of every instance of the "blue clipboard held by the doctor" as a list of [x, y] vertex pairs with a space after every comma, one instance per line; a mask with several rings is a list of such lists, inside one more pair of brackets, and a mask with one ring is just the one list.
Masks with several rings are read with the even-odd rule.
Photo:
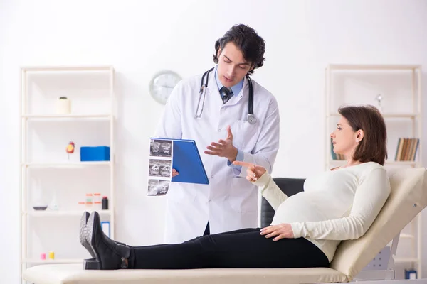
[[154, 140], [172, 141], [173, 158], [172, 168], [179, 175], [172, 178], [172, 182], [199, 183], [209, 185], [203, 162], [196, 146], [196, 141], [186, 139], [151, 138]]

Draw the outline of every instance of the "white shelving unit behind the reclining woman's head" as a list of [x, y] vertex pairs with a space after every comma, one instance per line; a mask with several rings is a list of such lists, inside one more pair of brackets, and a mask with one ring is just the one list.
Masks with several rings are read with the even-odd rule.
[[[387, 92], [387, 82], [390, 80], [396, 80], [397, 88], [402, 88], [405, 92], [396, 92], [396, 96], [392, 99], [391, 105], [404, 105], [399, 108], [385, 108], [381, 110], [381, 116], [384, 117], [386, 124], [393, 126], [393, 131], [398, 133], [398, 138], [419, 138], [423, 137], [423, 129], [420, 126], [423, 119], [423, 109], [421, 108], [422, 101], [422, 65], [413, 64], [352, 64], [352, 63], [339, 63], [334, 62], [325, 66], [324, 72], [324, 119], [325, 119], [325, 135], [329, 136], [330, 133], [335, 129], [333, 124], [336, 124], [341, 114], [338, 113], [337, 109], [334, 109], [334, 105], [339, 104], [340, 106], [346, 105], [366, 105], [372, 104], [378, 108], [377, 103], [373, 103], [372, 99], [364, 97], [367, 94], [377, 94], [378, 90]], [[344, 77], [340, 76], [344, 75]], [[337, 77], [338, 76], [338, 77]], [[355, 77], [354, 77], [355, 76]], [[389, 77], [389, 78], [387, 78]], [[349, 84], [347, 84], [349, 80]], [[399, 81], [399, 82], [397, 82]], [[382, 86], [380, 86], [382, 85]], [[337, 94], [336, 90], [340, 89], [341, 94]], [[396, 89], [396, 88], [395, 88]], [[359, 96], [359, 92], [362, 92], [362, 97]], [[395, 101], [395, 102], [393, 102]], [[332, 107], [332, 108], [331, 108]], [[411, 127], [406, 126], [411, 124]], [[332, 131], [331, 131], [332, 127]], [[389, 131], [387, 127], [387, 131]], [[400, 134], [399, 134], [400, 133]], [[329, 140], [329, 139], [328, 139]], [[399, 139], [398, 139], [399, 140]], [[423, 167], [422, 161], [419, 159], [423, 156], [423, 143], [422, 139], [416, 149], [416, 158], [413, 160], [396, 160], [396, 148], [388, 147], [388, 160], [385, 160], [384, 166], [390, 174], [399, 173], [403, 168], [417, 168]], [[390, 146], [387, 144], [387, 146]], [[411, 146], [413, 146], [411, 144]], [[335, 168], [338, 166], [343, 167], [347, 165], [347, 160], [332, 160], [335, 157], [334, 153], [331, 152], [331, 143], [327, 141], [325, 143], [325, 168]], [[413, 149], [412, 149], [413, 150]], [[332, 153], [332, 154], [331, 154]], [[340, 157], [342, 158], [342, 157]], [[401, 266], [412, 266], [412, 268], [418, 271], [418, 278], [425, 277], [424, 261], [423, 256], [423, 239], [421, 238], [423, 220], [421, 220], [422, 214], [417, 214], [417, 217], [412, 219], [411, 228], [408, 228], [404, 232], [399, 234], [399, 243], [397, 244], [397, 251], [400, 251], [401, 247], [411, 246], [411, 251], [406, 249], [404, 255], [394, 255], [394, 263], [402, 263]], [[392, 241], [389, 242], [388, 246], [392, 245]], [[394, 248], [395, 249], [395, 248]], [[396, 254], [396, 251], [394, 251]]]

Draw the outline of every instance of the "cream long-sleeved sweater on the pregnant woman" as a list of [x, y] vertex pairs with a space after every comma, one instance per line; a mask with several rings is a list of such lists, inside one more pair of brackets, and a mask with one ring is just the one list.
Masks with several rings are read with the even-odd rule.
[[369, 229], [390, 193], [386, 170], [369, 162], [307, 178], [304, 191], [288, 197], [268, 173], [253, 182], [275, 209], [272, 225], [288, 223], [332, 261], [340, 241]]

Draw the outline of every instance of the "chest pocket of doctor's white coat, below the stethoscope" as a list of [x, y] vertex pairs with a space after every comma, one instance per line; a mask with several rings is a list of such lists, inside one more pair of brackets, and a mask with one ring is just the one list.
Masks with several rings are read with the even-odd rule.
[[248, 121], [238, 120], [231, 125], [233, 133], [233, 145], [238, 150], [251, 152], [258, 139], [257, 124], [250, 124]]

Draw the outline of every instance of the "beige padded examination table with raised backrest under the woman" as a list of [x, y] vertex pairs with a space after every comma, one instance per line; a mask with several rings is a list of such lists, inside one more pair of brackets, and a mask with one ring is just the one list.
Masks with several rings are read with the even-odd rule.
[[[426, 168], [397, 170], [390, 173], [390, 182], [391, 195], [379, 216], [364, 236], [339, 244], [330, 268], [85, 271], [81, 264], [55, 264], [33, 266], [23, 271], [22, 276], [24, 280], [35, 284], [347, 283], [357, 280], [364, 272], [369, 279], [392, 279], [393, 254], [396, 252], [399, 233], [427, 205], [427, 170]], [[375, 277], [374, 274], [369, 275], [369, 271], [362, 271], [391, 241], [389, 268], [384, 271], [384, 275]], [[378, 273], [376, 271], [376, 275]], [[413, 280], [404, 281], [407, 283], [406, 281]], [[423, 283], [423, 280], [415, 281], [417, 284], [418, 281]], [[387, 280], [383, 283], [402, 282]]]

